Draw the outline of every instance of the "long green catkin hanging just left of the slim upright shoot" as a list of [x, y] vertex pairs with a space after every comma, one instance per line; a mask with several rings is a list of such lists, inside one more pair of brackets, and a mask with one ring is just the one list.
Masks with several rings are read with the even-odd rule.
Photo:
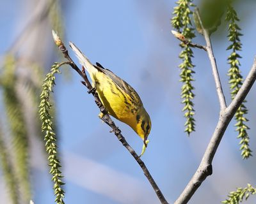
[[[192, 0], [179, 0], [176, 3], [178, 6], [175, 6], [171, 22], [172, 25], [179, 33], [181, 33], [188, 41], [191, 41], [192, 38], [195, 37], [194, 29], [191, 25], [191, 15], [193, 12], [190, 10], [190, 6], [193, 6]], [[182, 103], [184, 104], [184, 108], [182, 109], [184, 113], [184, 117], [186, 117], [185, 123], [185, 132], [188, 135], [195, 131], [195, 110], [193, 109], [193, 98], [195, 94], [193, 93], [194, 87], [192, 85], [193, 79], [193, 68], [195, 67], [192, 64], [193, 51], [189, 47], [189, 45], [180, 43], [180, 47], [182, 48], [182, 52], [180, 52], [180, 59], [182, 59], [182, 63], [179, 65], [180, 68], [180, 82], [182, 85], [181, 98]]]

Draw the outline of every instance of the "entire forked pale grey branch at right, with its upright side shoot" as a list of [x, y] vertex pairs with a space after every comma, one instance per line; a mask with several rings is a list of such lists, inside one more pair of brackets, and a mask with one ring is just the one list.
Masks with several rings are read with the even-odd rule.
[[207, 53], [209, 56], [209, 59], [211, 61], [212, 65], [212, 72], [214, 75], [214, 80], [216, 82], [216, 88], [218, 93], [218, 98], [220, 100], [220, 116], [218, 120], [218, 124], [214, 130], [214, 133], [212, 134], [211, 140], [207, 146], [207, 149], [205, 150], [204, 156], [202, 158], [202, 161], [200, 165], [198, 166], [198, 169], [196, 170], [195, 174], [189, 181], [188, 185], [185, 187], [184, 191], [180, 194], [179, 198], [175, 201], [175, 204], [186, 204], [190, 200], [190, 198], [195, 193], [196, 189], [204, 182], [204, 180], [212, 174], [212, 160], [214, 158], [214, 155], [216, 153], [216, 150], [218, 149], [218, 146], [220, 145], [221, 139], [227, 129], [228, 124], [230, 123], [230, 120], [232, 117], [234, 117], [234, 114], [236, 113], [239, 106], [241, 106], [241, 103], [246, 98], [248, 92], [252, 88], [253, 83], [256, 80], [256, 58], [254, 59], [253, 66], [248, 73], [248, 76], [244, 80], [243, 85], [239, 89], [239, 92], [237, 92], [236, 97], [232, 100], [230, 105], [227, 107], [225, 102], [225, 97], [223, 95], [223, 91], [221, 88], [221, 82], [220, 77], [218, 74], [218, 69], [216, 66], [216, 61], [214, 58], [214, 54], [212, 52], [211, 47], [211, 40], [209, 38], [209, 33], [204, 29], [202, 26], [202, 21], [200, 19], [198, 10], [195, 11], [196, 15], [198, 15], [198, 19], [200, 21], [201, 27], [204, 31], [205, 41], [207, 43]]

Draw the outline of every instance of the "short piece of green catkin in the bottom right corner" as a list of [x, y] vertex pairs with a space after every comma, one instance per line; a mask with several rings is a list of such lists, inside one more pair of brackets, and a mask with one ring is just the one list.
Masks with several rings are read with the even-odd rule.
[[245, 187], [244, 189], [239, 187], [237, 188], [236, 191], [232, 191], [229, 193], [228, 195], [228, 199], [225, 201], [222, 201], [221, 203], [225, 203], [225, 204], [239, 204], [243, 201], [243, 199], [245, 198], [245, 200], [247, 200], [250, 196], [250, 194], [256, 194], [256, 188], [252, 187], [251, 184], [247, 184], [247, 187]]

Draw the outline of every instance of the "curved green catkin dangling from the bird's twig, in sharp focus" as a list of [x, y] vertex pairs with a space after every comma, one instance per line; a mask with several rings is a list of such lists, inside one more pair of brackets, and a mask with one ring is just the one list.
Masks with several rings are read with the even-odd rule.
[[54, 63], [52, 65], [51, 72], [46, 75], [46, 78], [44, 80], [44, 84], [42, 85], [42, 93], [40, 94], [40, 105], [39, 105], [39, 115], [40, 120], [42, 121], [42, 131], [45, 133], [45, 147], [46, 151], [48, 153], [48, 161], [49, 166], [51, 166], [50, 173], [52, 175], [52, 182], [54, 183], [53, 189], [54, 189], [54, 195], [56, 196], [55, 202], [58, 204], [63, 204], [63, 198], [64, 198], [64, 191], [63, 191], [63, 182], [61, 178], [63, 177], [61, 175], [61, 165], [60, 160], [57, 156], [57, 145], [56, 145], [56, 137], [54, 130], [52, 128], [52, 116], [49, 113], [51, 110], [52, 105], [49, 103], [49, 95], [50, 92], [52, 92], [52, 88], [55, 85], [55, 77], [54, 75], [56, 73], [60, 73], [59, 71], [60, 64]]

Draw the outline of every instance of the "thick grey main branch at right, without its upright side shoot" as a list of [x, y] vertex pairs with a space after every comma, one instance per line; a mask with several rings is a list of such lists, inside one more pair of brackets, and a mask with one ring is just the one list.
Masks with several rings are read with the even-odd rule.
[[220, 117], [218, 124], [212, 134], [212, 138], [209, 142], [207, 149], [205, 150], [204, 157], [198, 166], [195, 174], [193, 175], [192, 179], [189, 181], [188, 185], [185, 187], [182, 194], [180, 194], [179, 198], [175, 201], [175, 204], [185, 204], [188, 203], [190, 198], [195, 193], [196, 189], [204, 182], [206, 177], [212, 174], [212, 159], [218, 149], [218, 146], [221, 142], [222, 136], [224, 135], [228, 124], [234, 114], [236, 113], [237, 109], [244, 101], [245, 97], [247, 96], [248, 92], [252, 88], [253, 83], [256, 80], [256, 58], [254, 59], [252, 69], [248, 76], [244, 80], [241, 89], [237, 93], [236, 97], [230, 103], [230, 105], [225, 108], [224, 111], [220, 112]]

